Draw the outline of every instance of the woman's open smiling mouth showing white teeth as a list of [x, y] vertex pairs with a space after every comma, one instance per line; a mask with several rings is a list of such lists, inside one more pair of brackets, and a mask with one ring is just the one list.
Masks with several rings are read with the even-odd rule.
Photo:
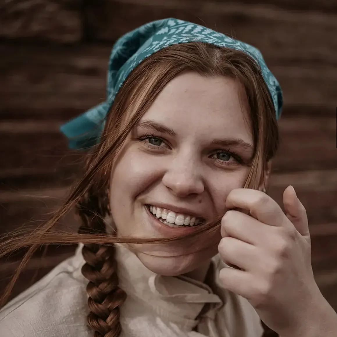
[[206, 222], [203, 218], [196, 218], [192, 215], [181, 214], [165, 208], [152, 205], [145, 205], [150, 214], [164, 225], [175, 228], [199, 226]]

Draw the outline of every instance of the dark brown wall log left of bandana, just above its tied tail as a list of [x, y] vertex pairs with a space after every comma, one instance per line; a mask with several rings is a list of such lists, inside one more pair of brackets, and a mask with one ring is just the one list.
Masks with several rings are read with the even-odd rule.
[[102, 102], [110, 50], [0, 43], [0, 117], [67, 120]]

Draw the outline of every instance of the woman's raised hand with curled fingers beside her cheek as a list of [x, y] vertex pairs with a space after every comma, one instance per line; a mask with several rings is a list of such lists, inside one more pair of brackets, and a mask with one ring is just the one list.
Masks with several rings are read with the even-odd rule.
[[218, 248], [225, 263], [241, 270], [223, 268], [220, 280], [279, 335], [311, 336], [315, 319], [324, 317], [317, 309], [325, 308], [325, 299], [312, 272], [308, 219], [292, 186], [283, 193], [283, 205], [286, 214], [261, 191], [229, 193]]

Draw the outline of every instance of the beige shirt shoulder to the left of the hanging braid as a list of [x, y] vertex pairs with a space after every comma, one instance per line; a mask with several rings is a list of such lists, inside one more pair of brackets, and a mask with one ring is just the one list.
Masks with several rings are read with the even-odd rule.
[[73, 256], [0, 310], [0, 336], [86, 336], [86, 281]]

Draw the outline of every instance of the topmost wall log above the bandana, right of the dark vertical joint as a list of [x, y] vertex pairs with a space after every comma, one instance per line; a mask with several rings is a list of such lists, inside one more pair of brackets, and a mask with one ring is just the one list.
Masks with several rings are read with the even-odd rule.
[[174, 17], [235, 35], [259, 48], [267, 61], [303, 64], [316, 59], [336, 64], [337, 20], [331, 13], [194, 0], [106, 1], [89, 5], [85, 12], [93, 40], [115, 41], [142, 24]]

